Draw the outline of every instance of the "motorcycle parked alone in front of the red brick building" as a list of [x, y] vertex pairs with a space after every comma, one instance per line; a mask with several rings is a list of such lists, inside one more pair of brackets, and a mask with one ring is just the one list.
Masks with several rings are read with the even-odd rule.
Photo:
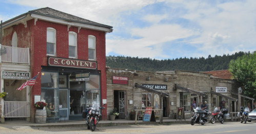
[[[102, 106], [104, 106], [103, 104]], [[102, 115], [100, 109], [105, 109], [105, 107], [99, 107], [97, 104], [93, 104], [90, 108], [85, 108], [83, 110], [82, 117], [85, 118], [87, 129], [94, 131], [96, 129], [96, 124], [102, 120]]]

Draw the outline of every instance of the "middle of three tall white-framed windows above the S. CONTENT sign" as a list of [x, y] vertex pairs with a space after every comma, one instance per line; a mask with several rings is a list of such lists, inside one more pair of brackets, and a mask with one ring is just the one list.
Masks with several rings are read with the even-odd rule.
[[69, 58], [77, 57], [77, 34], [75, 32], [68, 33], [68, 53]]

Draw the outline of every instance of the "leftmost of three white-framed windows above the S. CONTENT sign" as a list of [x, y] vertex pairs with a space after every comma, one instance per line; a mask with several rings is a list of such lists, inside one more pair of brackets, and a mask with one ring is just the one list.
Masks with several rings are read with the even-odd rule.
[[56, 56], [56, 30], [47, 28], [47, 55]]

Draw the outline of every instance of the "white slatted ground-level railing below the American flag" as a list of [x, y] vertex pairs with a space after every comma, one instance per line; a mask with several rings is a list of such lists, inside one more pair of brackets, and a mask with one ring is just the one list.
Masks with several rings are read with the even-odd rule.
[[29, 101], [5, 101], [5, 118], [30, 117]]

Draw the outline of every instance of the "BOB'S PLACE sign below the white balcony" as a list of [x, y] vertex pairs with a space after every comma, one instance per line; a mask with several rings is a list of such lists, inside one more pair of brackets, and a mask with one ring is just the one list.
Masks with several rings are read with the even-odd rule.
[[3, 71], [2, 78], [3, 79], [30, 79], [30, 73]]

